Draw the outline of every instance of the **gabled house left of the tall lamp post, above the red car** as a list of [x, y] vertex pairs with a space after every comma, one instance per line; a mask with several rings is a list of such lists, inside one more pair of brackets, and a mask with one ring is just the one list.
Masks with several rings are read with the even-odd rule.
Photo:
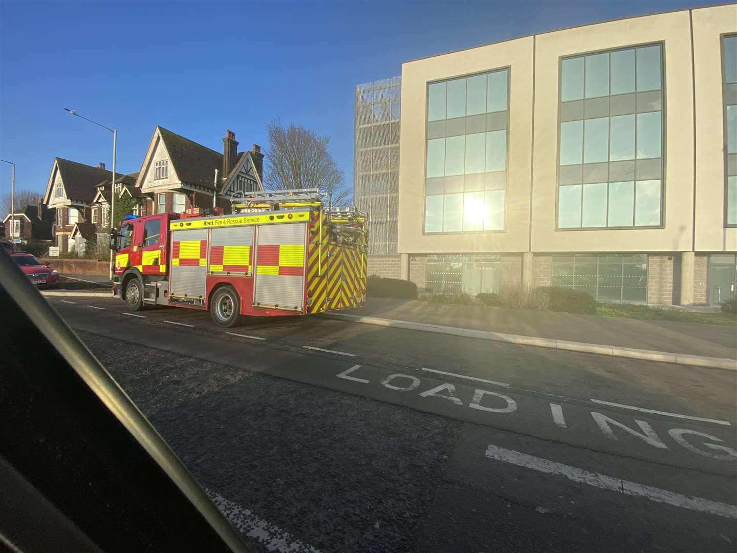
[[[92, 222], [92, 204], [97, 196], [97, 185], [105, 181], [109, 185], [111, 180], [112, 173], [105, 170], [104, 163], [92, 167], [69, 159], [54, 159], [43, 194], [43, 204], [55, 209], [54, 236], [61, 253], [69, 251], [69, 238], [74, 224]], [[116, 184], [122, 186], [133, 182], [135, 178], [116, 173]], [[97, 217], [101, 216], [98, 212]]]

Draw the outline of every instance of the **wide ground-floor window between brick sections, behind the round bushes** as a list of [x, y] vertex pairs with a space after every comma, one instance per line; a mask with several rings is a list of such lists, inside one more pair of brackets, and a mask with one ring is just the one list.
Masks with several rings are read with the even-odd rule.
[[645, 303], [647, 255], [553, 255], [551, 284], [590, 293], [598, 302]]

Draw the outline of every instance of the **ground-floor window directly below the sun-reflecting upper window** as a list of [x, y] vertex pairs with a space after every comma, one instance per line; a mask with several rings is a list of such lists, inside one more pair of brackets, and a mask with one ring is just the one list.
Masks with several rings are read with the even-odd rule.
[[502, 258], [484, 254], [428, 255], [425, 271], [428, 292], [465, 292], [475, 296], [499, 289]]

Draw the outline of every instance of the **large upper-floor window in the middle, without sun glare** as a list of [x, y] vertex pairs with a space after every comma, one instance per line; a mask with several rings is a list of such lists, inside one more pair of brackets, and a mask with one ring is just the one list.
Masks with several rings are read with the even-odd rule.
[[559, 229], [662, 224], [660, 45], [560, 65]]

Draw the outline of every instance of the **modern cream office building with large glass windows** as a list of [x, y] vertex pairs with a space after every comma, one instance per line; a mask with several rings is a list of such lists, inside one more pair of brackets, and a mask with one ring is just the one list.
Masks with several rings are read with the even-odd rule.
[[652, 305], [734, 293], [737, 4], [408, 61], [401, 97], [402, 278]]

